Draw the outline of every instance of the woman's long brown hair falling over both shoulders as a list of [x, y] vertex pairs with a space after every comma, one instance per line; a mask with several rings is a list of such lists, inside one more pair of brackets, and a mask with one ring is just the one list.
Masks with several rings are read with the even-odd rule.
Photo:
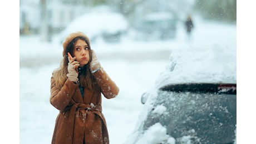
[[92, 75], [92, 73], [90, 71], [90, 63], [91, 63], [91, 55], [92, 55], [90, 43], [87, 42], [87, 39], [85, 37], [79, 36], [79, 37], [76, 37], [75, 39], [73, 39], [67, 45], [67, 48], [64, 49], [66, 55], [63, 57], [63, 59], [61, 61], [60, 68], [57, 68], [55, 70], [55, 73], [53, 73], [53, 78], [55, 79], [56, 86], [59, 89], [62, 88], [62, 86], [65, 84], [65, 81], [67, 80], [67, 74], [68, 74], [67, 53], [70, 52], [70, 54], [73, 55], [73, 48], [78, 39], [85, 40], [85, 42], [88, 44], [89, 54], [90, 54], [90, 60], [89, 60], [88, 64], [85, 65], [85, 68], [83, 68], [83, 70], [81, 71], [81, 73], [79, 75], [79, 78], [78, 78], [79, 83], [81, 84], [82, 87], [85, 87], [90, 90], [92, 90], [96, 84], [96, 79], [94, 78], [94, 76]]

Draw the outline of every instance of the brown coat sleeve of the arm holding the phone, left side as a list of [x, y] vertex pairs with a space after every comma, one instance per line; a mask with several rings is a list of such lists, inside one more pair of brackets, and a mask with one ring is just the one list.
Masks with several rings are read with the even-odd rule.
[[66, 80], [61, 89], [57, 88], [55, 79], [51, 77], [50, 103], [58, 110], [63, 110], [70, 103], [72, 95], [77, 88], [77, 84]]

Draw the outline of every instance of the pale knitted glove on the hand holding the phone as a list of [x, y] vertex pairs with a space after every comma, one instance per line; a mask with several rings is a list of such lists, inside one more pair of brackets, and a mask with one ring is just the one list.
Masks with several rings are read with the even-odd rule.
[[73, 81], [73, 82], [77, 83], [77, 81], [78, 81], [77, 68], [80, 64], [79, 64], [78, 61], [75, 61], [75, 59], [76, 59], [76, 57], [73, 57], [72, 59], [68, 58], [69, 63], [68, 63], [68, 66], [67, 66], [67, 71], [68, 71], [67, 78], [70, 81]]

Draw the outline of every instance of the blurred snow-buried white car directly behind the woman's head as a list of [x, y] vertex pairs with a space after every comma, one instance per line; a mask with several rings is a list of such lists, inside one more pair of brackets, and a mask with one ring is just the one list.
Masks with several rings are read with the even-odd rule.
[[58, 37], [63, 39], [72, 32], [83, 32], [91, 40], [103, 39], [108, 43], [120, 42], [126, 35], [129, 23], [121, 13], [111, 11], [88, 12], [73, 20]]

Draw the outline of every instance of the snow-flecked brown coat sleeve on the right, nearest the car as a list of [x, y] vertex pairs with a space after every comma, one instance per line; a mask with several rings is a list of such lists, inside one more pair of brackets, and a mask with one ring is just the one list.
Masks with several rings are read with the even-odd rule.
[[112, 99], [119, 94], [119, 88], [102, 67], [99, 71], [93, 73], [93, 75], [101, 87], [102, 94], [107, 99]]

